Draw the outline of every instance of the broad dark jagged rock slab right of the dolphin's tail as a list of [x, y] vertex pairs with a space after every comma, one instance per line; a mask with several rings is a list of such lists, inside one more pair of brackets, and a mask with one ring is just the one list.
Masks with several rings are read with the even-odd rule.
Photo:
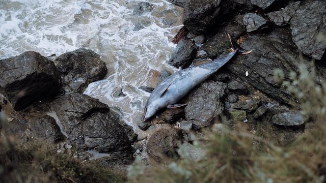
[[[298, 101], [274, 78], [275, 69], [281, 69], [287, 77], [290, 70], [296, 71], [295, 64], [300, 60], [289, 30], [276, 28], [265, 36], [249, 36], [241, 46], [254, 51], [249, 55], [237, 56], [225, 69], [269, 97], [296, 106]], [[250, 77], [243, 77], [246, 71], [251, 73]]]

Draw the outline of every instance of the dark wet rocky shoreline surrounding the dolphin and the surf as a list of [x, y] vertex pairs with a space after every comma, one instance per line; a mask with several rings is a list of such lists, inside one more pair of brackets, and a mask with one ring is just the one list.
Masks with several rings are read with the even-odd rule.
[[[280, 69], [289, 78], [291, 71], [299, 72], [299, 64], [309, 66], [314, 59], [316, 80], [324, 81], [326, 2], [170, 2], [184, 9], [187, 34], [168, 64], [184, 69], [222, 55], [230, 48], [225, 33], [254, 51], [237, 56], [192, 90], [182, 99], [187, 106], [161, 111], [147, 123], [139, 119], [137, 125], [146, 134], [141, 137], [107, 105], [83, 94], [107, 73], [95, 52], [78, 49], [58, 57], [25, 52], [3, 59], [0, 106], [9, 123], [0, 133], [16, 135], [22, 142], [41, 138], [58, 144], [58, 151], [86, 160], [96, 150], [106, 155], [100, 158], [103, 164], [116, 166], [130, 164], [135, 156], [145, 163], [182, 157], [181, 151], [197, 159], [201, 151], [193, 142], [204, 129], [219, 132], [223, 126], [234, 129], [242, 123], [254, 135], [283, 146], [313, 128], [313, 119], [300, 113], [300, 99], [274, 75]], [[152, 8], [141, 3], [134, 13]], [[160, 82], [170, 74], [162, 71], [151, 79]], [[152, 87], [140, 89], [150, 93]]]

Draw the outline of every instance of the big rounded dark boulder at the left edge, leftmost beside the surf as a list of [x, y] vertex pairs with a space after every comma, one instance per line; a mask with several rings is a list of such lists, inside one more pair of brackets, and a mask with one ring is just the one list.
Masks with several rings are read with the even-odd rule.
[[0, 60], [0, 92], [6, 95], [15, 110], [55, 96], [60, 85], [55, 65], [37, 52], [27, 51]]

